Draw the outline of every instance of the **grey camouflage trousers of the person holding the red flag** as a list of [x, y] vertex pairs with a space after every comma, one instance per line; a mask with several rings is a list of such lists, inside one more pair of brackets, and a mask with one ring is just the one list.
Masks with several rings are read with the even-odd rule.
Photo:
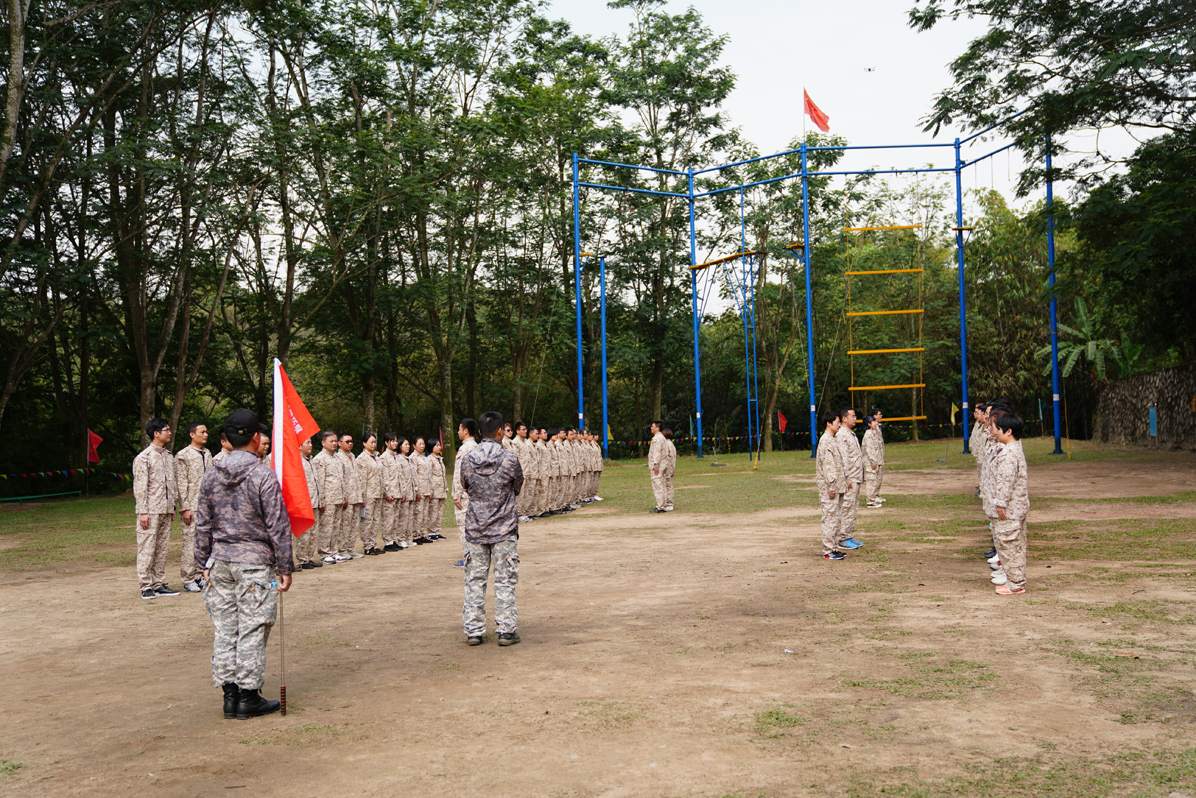
[[216, 560], [209, 575], [203, 604], [215, 631], [212, 682], [260, 689], [266, 681], [266, 641], [279, 607], [274, 568]]

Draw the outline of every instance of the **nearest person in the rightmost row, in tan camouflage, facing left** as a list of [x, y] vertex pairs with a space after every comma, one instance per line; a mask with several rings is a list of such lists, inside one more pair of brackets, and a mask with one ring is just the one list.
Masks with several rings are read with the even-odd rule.
[[1030, 514], [1030, 488], [1026, 456], [1021, 450], [1023, 421], [1013, 413], [994, 422], [994, 435], [1001, 449], [989, 463], [991, 495], [989, 506], [993, 538], [1006, 584], [996, 592], [1013, 596], [1026, 591], [1026, 516]]

